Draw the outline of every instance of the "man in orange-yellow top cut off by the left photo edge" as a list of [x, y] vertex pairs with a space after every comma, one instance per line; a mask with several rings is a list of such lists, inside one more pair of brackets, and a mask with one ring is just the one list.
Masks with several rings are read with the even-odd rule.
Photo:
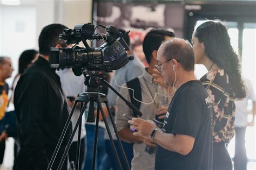
[[8, 138], [5, 132], [5, 111], [8, 107], [8, 91], [9, 86], [5, 82], [6, 79], [11, 77], [12, 71], [11, 59], [5, 56], [0, 56], [0, 165], [3, 163], [5, 139]]

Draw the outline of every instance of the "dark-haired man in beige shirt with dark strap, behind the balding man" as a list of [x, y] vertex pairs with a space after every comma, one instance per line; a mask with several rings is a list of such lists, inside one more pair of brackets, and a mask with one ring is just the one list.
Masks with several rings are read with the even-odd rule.
[[[154, 73], [154, 65], [157, 64], [158, 48], [164, 41], [170, 40], [173, 37], [171, 35], [173, 35], [173, 33], [164, 29], [152, 29], [146, 34], [143, 48], [149, 67], [143, 70], [141, 76], [126, 82], [123, 84], [123, 88], [120, 89], [120, 94], [143, 112], [142, 118], [145, 120], [153, 120], [155, 118], [163, 119], [161, 117], [163, 117], [163, 114], [165, 115], [167, 111], [166, 108], [162, 107], [169, 102], [167, 90], [153, 81], [152, 74]], [[134, 73], [132, 69], [129, 71]], [[127, 87], [134, 89], [134, 95], [132, 90], [126, 89]], [[143, 101], [143, 103], [136, 103], [134, 98]], [[154, 141], [150, 138], [133, 136], [130, 125], [127, 123], [128, 118], [123, 115], [128, 114], [130, 117], [137, 117], [137, 115], [120, 100], [119, 97], [117, 97], [116, 102], [116, 126], [118, 134], [122, 140], [134, 143], [134, 156], [131, 162], [132, 169], [154, 169], [154, 159], [156, 156], [156, 152], [154, 151], [156, 145]], [[151, 147], [151, 151], [145, 150], [146, 145]]]

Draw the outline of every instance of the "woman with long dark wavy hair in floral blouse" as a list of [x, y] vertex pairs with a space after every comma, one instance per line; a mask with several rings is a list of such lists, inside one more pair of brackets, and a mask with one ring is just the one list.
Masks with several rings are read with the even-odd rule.
[[238, 55], [231, 46], [226, 27], [218, 20], [207, 20], [193, 32], [192, 44], [197, 64], [208, 73], [201, 77], [214, 107], [213, 169], [231, 170], [227, 144], [235, 133], [235, 100], [246, 97]]

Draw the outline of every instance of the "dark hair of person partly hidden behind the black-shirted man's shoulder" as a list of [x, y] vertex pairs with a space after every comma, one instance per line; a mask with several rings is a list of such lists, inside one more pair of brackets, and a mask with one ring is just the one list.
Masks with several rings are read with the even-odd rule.
[[29, 64], [35, 60], [36, 55], [38, 54], [37, 51], [34, 49], [28, 49], [24, 51], [21, 56], [19, 56], [19, 70], [18, 74], [22, 74], [26, 68], [28, 68]]

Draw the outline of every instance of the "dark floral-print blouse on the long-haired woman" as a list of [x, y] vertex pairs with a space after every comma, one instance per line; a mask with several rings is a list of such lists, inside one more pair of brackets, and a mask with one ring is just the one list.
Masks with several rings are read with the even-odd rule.
[[215, 69], [201, 77], [200, 81], [213, 102], [213, 142], [229, 143], [234, 137], [235, 104], [228, 75], [224, 69]]

